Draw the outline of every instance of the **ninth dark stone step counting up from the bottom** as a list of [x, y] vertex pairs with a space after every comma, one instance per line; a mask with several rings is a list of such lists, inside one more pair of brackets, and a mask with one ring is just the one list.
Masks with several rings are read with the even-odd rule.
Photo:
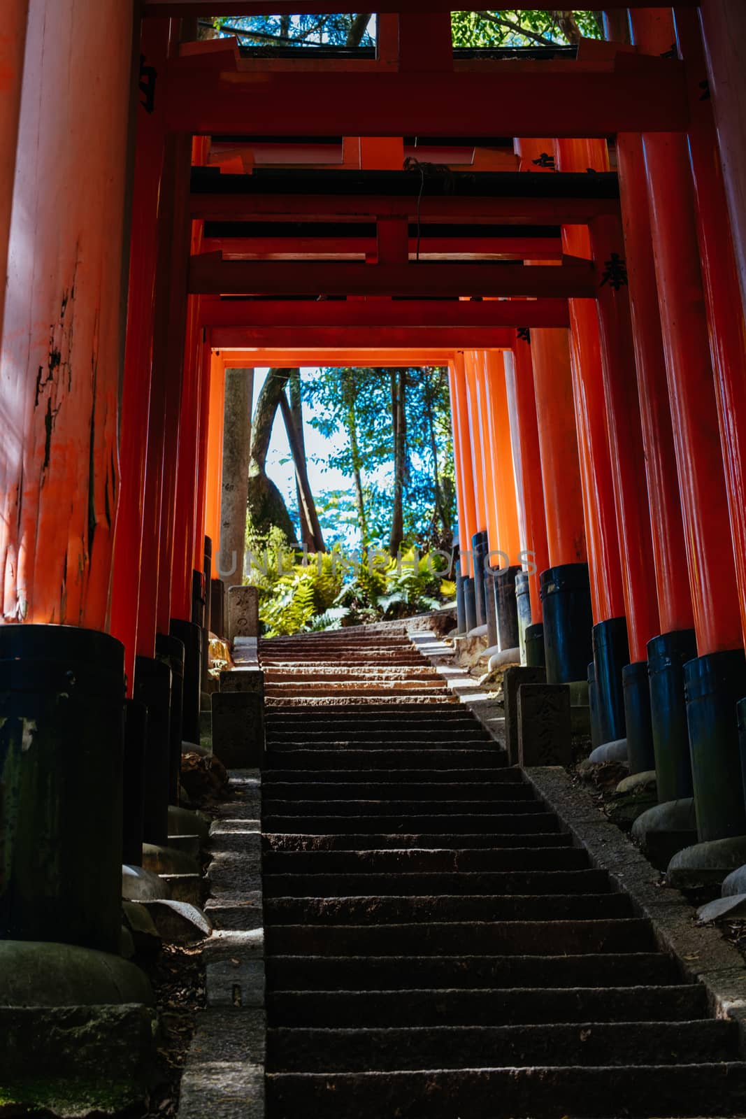
[[[495, 847], [572, 847], [573, 837], [567, 831], [539, 831], [529, 834], [513, 831], [512, 834], [464, 834], [442, 835], [437, 833], [425, 835], [299, 835], [272, 833], [263, 837], [264, 850], [267, 852], [370, 852], [370, 850], [466, 850], [470, 848]], [[305, 872], [311, 873], [309, 871]], [[463, 872], [461, 872], [463, 873]], [[482, 872], [484, 873], [484, 872]], [[561, 873], [561, 872], [556, 872]]]

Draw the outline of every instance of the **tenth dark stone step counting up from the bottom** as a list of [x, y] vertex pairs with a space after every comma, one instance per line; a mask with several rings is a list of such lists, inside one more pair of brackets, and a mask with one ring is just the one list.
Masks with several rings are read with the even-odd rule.
[[[519, 802], [520, 803], [520, 802]], [[556, 831], [559, 827], [551, 812], [484, 812], [482, 815], [433, 812], [386, 816], [271, 815], [263, 817], [265, 831], [296, 831], [304, 835], [327, 835], [334, 831]]]

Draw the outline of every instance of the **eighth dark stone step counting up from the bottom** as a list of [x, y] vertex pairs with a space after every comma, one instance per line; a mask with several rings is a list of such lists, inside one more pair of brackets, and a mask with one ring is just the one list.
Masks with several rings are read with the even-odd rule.
[[[544, 838], [544, 837], [542, 837]], [[265, 874], [397, 874], [483, 871], [585, 871], [580, 847], [468, 847], [267, 852]]]

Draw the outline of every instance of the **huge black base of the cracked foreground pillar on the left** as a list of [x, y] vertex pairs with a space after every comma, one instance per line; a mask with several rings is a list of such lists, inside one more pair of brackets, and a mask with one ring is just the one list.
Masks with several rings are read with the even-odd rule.
[[119, 951], [123, 646], [74, 626], [0, 626], [0, 942]]

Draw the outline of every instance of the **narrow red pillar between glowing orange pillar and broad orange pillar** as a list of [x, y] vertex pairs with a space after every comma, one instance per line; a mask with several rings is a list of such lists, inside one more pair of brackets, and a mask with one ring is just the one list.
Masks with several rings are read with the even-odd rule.
[[516, 337], [512, 365], [506, 360], [506, 380], [511, 378], [514, 385], [520, 439], [520, 477], [523, 492], [523, 516], [526, 518], [526, 547], [529, 553], [529, 563], [526, 566], [529, 571], [531, 622], [537, 623], [544, 617], [539, 593], [539, 575], [549, 566], [549, 548], [547, 545], [547, 516], [544, 507], [541, 450], [536, 419], [530, 337], [530, 335], [528, 338], [526, 336]]

